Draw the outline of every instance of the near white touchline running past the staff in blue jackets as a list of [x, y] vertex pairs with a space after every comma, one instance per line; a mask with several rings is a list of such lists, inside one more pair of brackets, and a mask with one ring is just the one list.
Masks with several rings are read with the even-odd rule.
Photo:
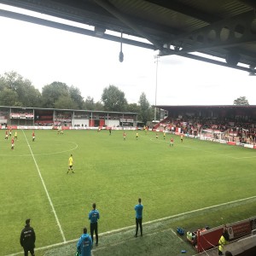
[[[145, 224], [152, 224], [152, 223], [155, 223], [155, 222], [160, 222], [162, 220], [167, 220], [167, 219], [170, 219], [170, 218], [181, 217], [181, 216], [189, 214], [189, 213], [203, 212], [203, 211], [208, 210], [208, 209], [217, 208], [217, 207], [223, 207], [225, 205], [234, 204], [234, 203], [241, 202], [241, 201], [247, 201], [247, 200], [251, 200], [251, 199], [255, 199], [255, 198], [256, 198], [256, 195], [250, 196], [250, 197], [247, 197], [247, 198], [243, 198], [243, 199], [239, 199], [239, 200], [236, 200], [236, 201], [228, 201], [228, 202], [225, 202], [225, 203], [222, 203], [222, 204], [218, 204], [218, 205], [215, 205], [215, 206], [212, 206], [212, 207], [204, 207], [204, 208], [196, 209], [196, 210], [189, 211], [189, 212], [182, 212], [182, 213], [178, 213], [178, 214], [175, 214], [175, 215], [172, 215], [172, 216], [168, 216], [168, 217], [165, 217], [165, 218], [154, 219], [152, 221], [148, 221], [148, 222], [144, 223], [143, 225], [145, 225]], [[134, 225], [128, 226], [128, 227], [124, 227], [124, 228], [121, 228], [121, 229], [118, 229], [118, 230], [107, 231], [107, 232], [104, 232], [102, 234], [99, 234], [99, 236], [106, 236], [106, 235], [110, 235], [110, 234], [113, 234], [113, 233], [117, 233], [119, 231], [131, 230], [131, 228], [133, 229]], [[49, 246], [46, 246], [46, 247], [38, 247], [38, 248], [36, 248], [36, 251], [48, 249], [48, 248], [51, 248], [51, 247], [61, 246], [61, 245], [64, 245], [64, 244], [67, 244], [67, 243], [71, 243], [71, 242], [74, 242], [74, 241], [79, 241], [79, 238], [78, 239], [69, 240], [69, 241], [65, 241], [65, 242], [55, 243], [55, 244], [52, 244], [52, 245], [49, 245]], [[6, 255], [6, 256], [15, 256], [15, 255], [19, 255], [19, 254], [22, 254], [22, 253], [24, 253], [24, 252], [9, 254], [9, 255]]]

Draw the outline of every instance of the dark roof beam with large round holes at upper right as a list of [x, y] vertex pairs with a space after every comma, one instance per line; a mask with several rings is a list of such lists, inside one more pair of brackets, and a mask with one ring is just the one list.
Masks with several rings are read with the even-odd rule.
[[256, 42], [256, 32], [251, 29], [255, 19], [253, 11], [250, 11], [177, 36], [172, 42], [167, 43], [176, 48], [169, 54], [183, 55], [195, 51], [202, 52], [205, 49], [228, 49], [240, 44]]

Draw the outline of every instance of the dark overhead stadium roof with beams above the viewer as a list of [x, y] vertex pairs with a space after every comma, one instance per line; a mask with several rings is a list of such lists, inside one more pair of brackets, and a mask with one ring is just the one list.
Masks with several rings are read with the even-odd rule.
[[256, 73], [253, 0], [0, 0], [0, 3], [76, 21], [91, 29], [0, 10], [5, 17], [116, 42], [120, 42], [123, 34], [122, 43], [158, 49], [159, 55], [181, 55]]

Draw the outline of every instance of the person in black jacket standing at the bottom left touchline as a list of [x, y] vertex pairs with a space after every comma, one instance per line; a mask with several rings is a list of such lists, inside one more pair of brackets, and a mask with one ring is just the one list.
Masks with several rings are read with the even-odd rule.
[[30, 252], [32, 256], [35, 255], [34, 253], [35, 241], [36, 241], [35, 231], [30, 226], [30, 218], [27, 218], [26, 226], [23, 230], [21, 230], [21, 234], [20, 234], [20, 245], [24, 249], [25, 256], [28, 255], [28, 252]]

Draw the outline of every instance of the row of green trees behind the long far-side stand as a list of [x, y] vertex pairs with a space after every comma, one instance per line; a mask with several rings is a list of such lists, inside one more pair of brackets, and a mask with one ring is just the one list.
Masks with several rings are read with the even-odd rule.
[[125, 93], [110, 84], [103, 89], [101, 101], [81, 96], [79, 88], [62, 82], [46, 84], [42, 93], [29, 79], [14, 71], [0, 75], [0, 105], [30, 108], [84, 109], [138, 113], [138, 119], [146, 124], [154, 119], [154, 108], [143, 92], [137, 103], [128, 103]]

